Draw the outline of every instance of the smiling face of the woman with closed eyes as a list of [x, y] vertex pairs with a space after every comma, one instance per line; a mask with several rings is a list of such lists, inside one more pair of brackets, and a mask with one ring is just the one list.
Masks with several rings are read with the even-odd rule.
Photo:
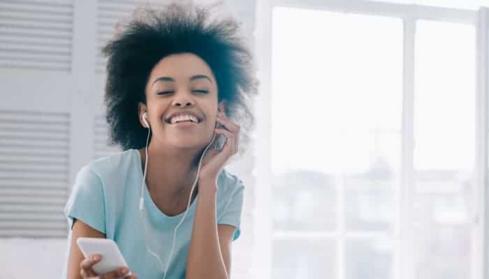
[[[172, 54], [154, 66], [146, 84], [147, 106], [140, 103], [157, 146], [202, 148], [212, 139], [217, 117], [217, 83], [210, 67], [200, 57]], [[224, 110], [224, 103], [219, 108]], [[189, 112], [197, 123], [174, 113]], [[195, 120], [195, 119], [193, 119]], [[177, 121], [177, 122], [175, 122]]]

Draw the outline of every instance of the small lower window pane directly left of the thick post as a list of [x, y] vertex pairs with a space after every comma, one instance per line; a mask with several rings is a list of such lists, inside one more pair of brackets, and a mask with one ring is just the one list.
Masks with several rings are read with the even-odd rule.
[[387, 237], [346, 242], [346, 279], [393, 278], [393, 243]]

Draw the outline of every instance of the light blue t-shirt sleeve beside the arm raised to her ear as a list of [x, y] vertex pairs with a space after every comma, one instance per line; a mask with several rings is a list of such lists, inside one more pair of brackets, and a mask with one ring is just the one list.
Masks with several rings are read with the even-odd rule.
[[245, 196], [245, 186], [240, 179], [236, 179], [236, 184], [234, 186], [231, 199], [228, 200], [225, 208], [224, 214], [221, 219], [217, 222], [222, 225], [232, 225], [235, 227], [235, 232], [233, 236], [233, 241], [238, 239], [241, 234], [241, 212], [243, 207], [243, 199]]

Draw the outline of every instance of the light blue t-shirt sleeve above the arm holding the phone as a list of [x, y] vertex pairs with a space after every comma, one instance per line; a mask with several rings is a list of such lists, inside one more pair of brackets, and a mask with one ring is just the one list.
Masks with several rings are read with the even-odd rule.
[[69, 229], [73, 228], [76, 218], [105, 234], [105, 197], [102, 182], [100, 176], [89, 167], [82, 167], [76, 175], [64, 213], [68, 218]]

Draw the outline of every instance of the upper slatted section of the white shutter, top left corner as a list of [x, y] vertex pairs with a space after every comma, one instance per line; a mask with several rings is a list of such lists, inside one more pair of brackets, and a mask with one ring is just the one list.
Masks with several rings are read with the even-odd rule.
[[71, 0], [0, 1], [0, 67], [71, 69]]

